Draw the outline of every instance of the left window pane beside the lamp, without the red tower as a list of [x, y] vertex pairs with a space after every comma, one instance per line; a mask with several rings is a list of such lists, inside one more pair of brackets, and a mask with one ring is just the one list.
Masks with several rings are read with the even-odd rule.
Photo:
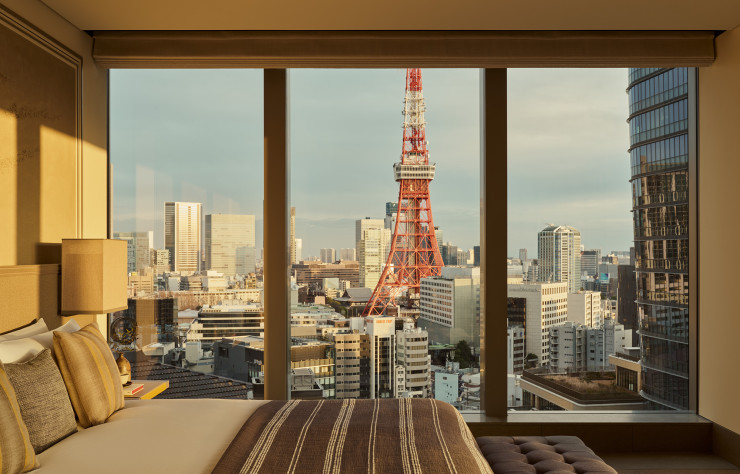
[[[159, 398], [251, 398], [261, 340], [262, 70], [112, 70], [111, 237], [128, 309], [111, 347]], [[227, 342], [228, 341], [228, 342]], [[255, 343], [256, 344], [256, 343]]]

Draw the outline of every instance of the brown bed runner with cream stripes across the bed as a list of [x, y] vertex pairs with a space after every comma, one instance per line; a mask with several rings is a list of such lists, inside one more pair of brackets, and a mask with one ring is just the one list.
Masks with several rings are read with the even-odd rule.
[[272, 401], [214, 473], [476, 473], [491, 469], [460, 414], [433, 399]]

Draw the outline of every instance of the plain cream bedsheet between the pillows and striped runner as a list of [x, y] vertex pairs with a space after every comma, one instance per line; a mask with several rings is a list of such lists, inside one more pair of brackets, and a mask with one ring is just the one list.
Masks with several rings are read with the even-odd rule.
[[[44, 473], [211, 472], [263, 400], [126, 400], [108, 422], [38, 456]], [[38, 472], [34, 471], [34, 472]]]

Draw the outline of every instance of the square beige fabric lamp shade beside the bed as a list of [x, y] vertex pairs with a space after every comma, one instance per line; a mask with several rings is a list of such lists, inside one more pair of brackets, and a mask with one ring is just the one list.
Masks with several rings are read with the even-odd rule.
[[62, 239], [62, 314], [127, 307], [126, 241]]

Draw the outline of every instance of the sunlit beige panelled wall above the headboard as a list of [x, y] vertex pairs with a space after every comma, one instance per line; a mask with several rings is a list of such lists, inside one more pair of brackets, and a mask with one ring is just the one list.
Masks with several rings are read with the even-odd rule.
[[[0, 7], [0, 266], [59, 264], [62, 238], [107, 234], [108, 72], [92, 38], [42, 2]], [[57, 294], [44, 285], [11, 296]]]

